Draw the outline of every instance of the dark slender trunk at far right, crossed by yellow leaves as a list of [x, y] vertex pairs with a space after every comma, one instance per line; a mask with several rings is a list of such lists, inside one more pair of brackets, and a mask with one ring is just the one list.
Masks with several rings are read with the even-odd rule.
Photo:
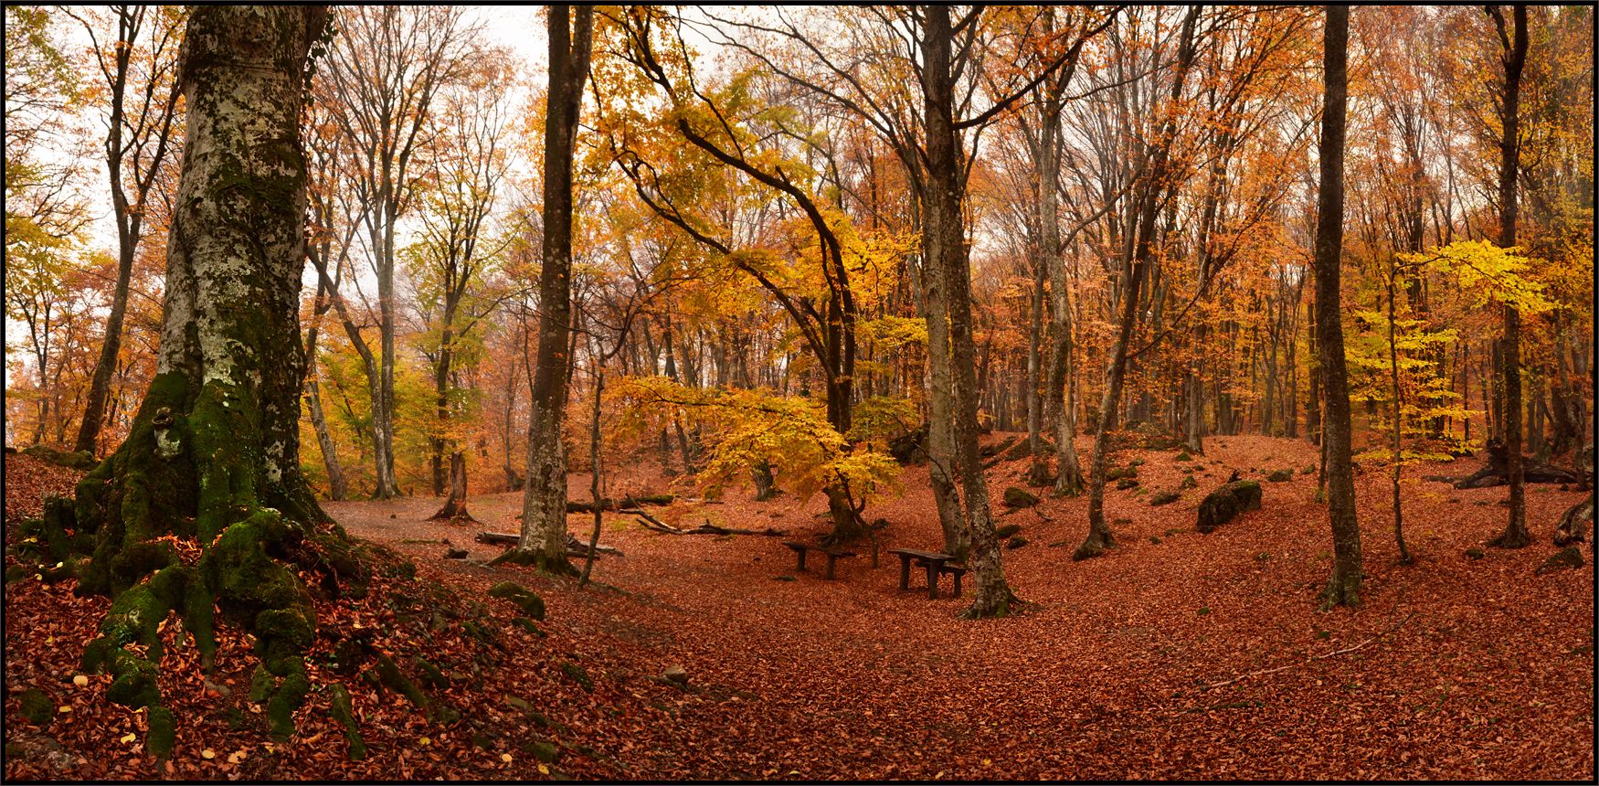
[[[1497, 6], [1489, 6], [1493, 21], [1505, 34], [1505, 16]], [[1517, 139], [1521, 107], [1521, 70], [1527, 64], [1527, 6], [1514, 6], [1514, 43], [1505, 42], [1505, 104], [1503, 134], [1500, 136], [1500, 247], [1516, 245], [1516, 173], [1521, 166], [1521, 142]], [[1509, 520], [1505, 531], [1489, 541], [1489, 546], [1519, 549], [1532, 543], [1527, 531], [1525, 459], [1521, 456], [1521, 312], [1505, 306], [1505, 351], [1501, 355], [1505, 376], [1505, 450], [1509, 453]]]

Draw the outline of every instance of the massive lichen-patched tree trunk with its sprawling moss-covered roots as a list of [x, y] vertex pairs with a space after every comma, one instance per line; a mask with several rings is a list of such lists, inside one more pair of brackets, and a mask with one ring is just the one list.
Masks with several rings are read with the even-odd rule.
[[[128, 440], [78, 483], [75, 504], [51, 503], [38, 523], [46, 541], [72, 530], [72, 544], [93, 547], [75, 563], [78, 592], [114, 602], [85, 669], [115, 676], [115, 701], [149, 708], [147, 748], [158, 757], [174, 725], [155, 679], [168, 610], [195, 636], [206, 669], [213, 608], [254, 634], [269, 728], [288, 738], [310, 690], [302, 656], [315, 616], [294, 570], [273, 555], [323, 570], [349, 549], [299, 471], [299, 118], [305, 54], [325, 21], [326, 6], [216, 5], [190, 16], [181, 74], [189, 138], [157, 373]], [[165, 535], [193, 538], [198, 563], [179, 560]]]

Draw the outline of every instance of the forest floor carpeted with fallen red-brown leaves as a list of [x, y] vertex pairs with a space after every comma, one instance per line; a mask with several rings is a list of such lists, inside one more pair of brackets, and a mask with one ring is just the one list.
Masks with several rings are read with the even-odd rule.
[[[441, 591], [438, 604], [480, 599], [504, 626], [507, 604], [484, 596], [512, 579], [548, 608], [544, 637], [504, 626], [504, 650], [488, 660], [459, 655], [453, 624], [429, 636], [395, 607], [401, 591], [417, 592], [405, 589], [405, 576], [374, 583], [355, 612], [328, 612], [349, 615], [333, 624], [403, 634], [390, 647], [401, 664], [401, 652], [413, 650], [451, 664], [435, 696], [467, 714], [435, 724], [405, 698], [352, 680], [369, 749], [363, 762], [347, 760], [326, 698], [315, 693], [289, 744], [267, 743], [248, 714], [238, 722], [251, 706], [243, 690], [224, 685], [248, 684], [251, 658], [243, 642], [224, 640], [205, 690], [195, 674], [163, 682], [169, 703], [189, 711], [179, 711], [171, 764], [157, 767], [142, 754], [142, 735], [131, 733], [142, 719], [106, 701], [109, 677], [72, 682], [106, 600], [74, 599], [70, 579], [27, 578], [5, 592], [5, 776], [1594, 778], [1591, 544], [1581, 568], [1535, 575], [1556, 551], [1554, 522], [1581, 493], [1530, 485], [1533, 544], [1473, 559], [1466, 549], [1503, 528], [1506, 490], [1417, 480], [1466, 475], [1479, 459], [1412, 467], [1404, 506], [1417, 562], [1401, 567], [1388, 475], [1366, 471], [1356, 477], [1364, 604], [1322, 613], [1316, 596], [1332, 544], [1326, 507], [1313, 499], [1316, 475], [1302, 472], [1316, 448], [1212, 437], [1206, 450], [1191, 464], [1198, 488], [1159, 507], [1148, 498], [1183, 477], [1175, 455], [1116, 456], [1115, 466], [1145, 464], [1137, 488], [1107, 491], [1119, 546], [1100, 559], [1070, 560], [1086, 533], [1086, 498], [1046, 495], [1035, 509], [1001, 515], [1028, 539], [1004, 551], [1006, 575], [1036, 605], [993, 621], [956, 620], [969, 594], [948, 597], [948, 579], [939, 600], [916, 575], [902, 592], [899, 560], [883, 554], [873, 567], [870, 543], [839, 560], [836, 581], [815, 567], [795, 571], [780, 541], [827, 530], [820, 496], [755, 503], [736, 488], [715, 504], [652, 509], [683, 527], [777, 527], [787, 538], [672, 536], [608, 514], [601, 544], [624, 555], [600, 559], [598, 586], [585, 591], [483, 565], [500, 549], [472, 536], [515, 531], [518, 493], [473, 496], [481, 525], [425, 522], [440, 504], [433, 498], [328, 503], [352, 535], [414, 560], [416, 581], [454, 592]], [[1087, 456], [1086, 442], [1079, 451]], [[8, 475], [30, 480], [18, 483], [16, 506], [6, 483], [8, 539], [13, 517], [37, 509], [48, 483], [24, 461], [6, 456]], [[1284, 467], [1295, 469], [1292, 480], [1265, 482]], [[636, 467], [611, 493], [659, 487], [646, 480], [654, 469]], [[991, 496], [1022, 485], [1025, 469], [1027, 459], [995, 467]], [[1196, 533], [1199, 499], [1233, 469], [1263, 480], [1263, 507]], [[907, 467], [902, 482], [900, 496], [867, 511], [891, 522], [881, 546], [937, 549], [926, 467]], [[571, 488], [574, 499], [588, 498], [585, 475], [572, 475]], [[35, 499], [24, 498], [30, 493]], [[574, 514], [569, 525], [587, 541], [588, 515]], [[443, 559], [443, 539], [469, 559]], [[168, 655], [163, 680], [182, 663]], [[465, 674], [483, 663], [491, 671], [480, 679]], [[688, 671], [686, 688], [662, 679], [670, 666]], [[24, 720], [18, 696], [27, 688], [62, 711], [45, 724]]]

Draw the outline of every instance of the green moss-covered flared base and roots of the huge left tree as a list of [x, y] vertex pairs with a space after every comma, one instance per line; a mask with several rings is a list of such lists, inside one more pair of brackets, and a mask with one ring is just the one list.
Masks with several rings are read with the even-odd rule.
[[[216, 608], [254, 634], [257, 698], [272, 735], [286, 740], [310, 692], [304, 653], [315, 640], [310, 592], [288, 565], [323, 573], [333, 587], [368, 578], [309, 493], [257, 471], [261, 450], [240, 439], [257, 432], [246, 394], [213, 379], [184, 407], [185, 389], [184, 376], [158, 375], [128, 440], [78, 483], [74, 506], [51, 503], [34, 527], [46, 554], [88, 554], [77, 563], [77, 594], [112, 597], [83, 669], [115, 677], [112, 701], [149, 708], [147, 749], [160, 759], [173, 748], [171, 712], [157, 690], [158, 628], [169, 613], [193, 636], [205, 669], [216, 660]], [[184, 563], [168, 535], [195, 538], [200, 559]]]

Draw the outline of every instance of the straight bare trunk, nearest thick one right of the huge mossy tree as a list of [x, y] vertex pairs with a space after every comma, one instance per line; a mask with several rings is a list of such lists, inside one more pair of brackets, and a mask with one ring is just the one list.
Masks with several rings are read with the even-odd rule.
[[593, 6], [550, 6], [550, 93], [544, 128], [544, 269], [539, 274], [539, 355], [528, 416], [528, 485], [521, 538], [505, 559], [558, 575], [577, 575], [566, 560], [566, 410], [572, 322], [572, 149], [584, 80], [588, 77]]

